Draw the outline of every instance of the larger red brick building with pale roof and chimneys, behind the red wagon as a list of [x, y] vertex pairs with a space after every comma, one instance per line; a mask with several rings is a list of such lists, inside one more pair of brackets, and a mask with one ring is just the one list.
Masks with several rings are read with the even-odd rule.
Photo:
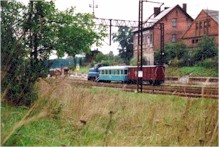
[[[160, 48], [160, 23], [164, 23], [164, 43], [176, 43], [181, 40], [185, 31], [191, 25], [193, 18], [186, 12], [187, 5], [183, 4], [164, 10], [154, 8], [154, 16], [148, 26], [143, 29], [143, 58], [148, 65], [154, 64], [154, 53]], [[138, 31], [134, 32], [134, 56], [137, 56]]]

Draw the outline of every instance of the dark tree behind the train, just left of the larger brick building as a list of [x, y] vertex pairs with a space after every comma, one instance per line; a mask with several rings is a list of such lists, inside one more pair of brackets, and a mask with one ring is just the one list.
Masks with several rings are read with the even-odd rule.
[[133, 57], [133, 36], [129, 27], [120, 27], [118, 32], [113, 34], [113, 41], [119, 42], [119, 56], [126, 64], [129, 64]]

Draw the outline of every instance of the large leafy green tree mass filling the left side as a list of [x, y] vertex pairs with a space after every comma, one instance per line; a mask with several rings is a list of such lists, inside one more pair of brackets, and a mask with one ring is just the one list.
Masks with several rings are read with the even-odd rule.
[[14, 104], [32, 102], [33, 85], [53, 51], [59, 57], [75, 56], [105, 36], [92, 15], [75, 13], [74, 8], [59, 11], [52, 1], [29, 1], [28, 6], [1, 1], [1, 6], [2, 97]]

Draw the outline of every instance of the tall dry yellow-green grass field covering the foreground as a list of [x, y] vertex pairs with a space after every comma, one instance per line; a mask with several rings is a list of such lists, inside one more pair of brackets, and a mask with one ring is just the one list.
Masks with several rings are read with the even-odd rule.
[[[218, 146], [218, 101], [40, 80], [41, 97], [8, 146]], [[30, 109], [2, 105], [2, 140]], [[27, 121], [42, 111], [47, 117]], [[7, 123], [10, 122], [10, 123]]]

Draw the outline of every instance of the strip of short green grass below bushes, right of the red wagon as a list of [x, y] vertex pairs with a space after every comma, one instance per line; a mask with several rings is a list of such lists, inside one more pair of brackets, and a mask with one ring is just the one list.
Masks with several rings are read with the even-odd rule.
[[217, 68], [206, 68], [201, 66], [192, 67], [167, 67], [166, 76], [185, 76], [192, 77], [218, 77]]

